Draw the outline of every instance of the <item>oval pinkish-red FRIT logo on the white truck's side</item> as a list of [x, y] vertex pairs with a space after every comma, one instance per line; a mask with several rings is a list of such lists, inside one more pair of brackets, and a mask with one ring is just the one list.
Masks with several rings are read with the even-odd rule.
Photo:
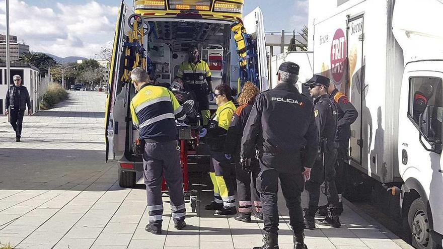
[[331, 72], [337, 85], [341, 82], [346, 68], [346, 38], [343, 30], [335, 31], [331, 45]]

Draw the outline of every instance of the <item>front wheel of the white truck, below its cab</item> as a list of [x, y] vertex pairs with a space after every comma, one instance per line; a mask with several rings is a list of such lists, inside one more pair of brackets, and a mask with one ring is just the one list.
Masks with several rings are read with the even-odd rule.
[[411, 234], [412, 245], [418, 249], [440, 248], [430, 235], [429, 219], [426, 213], [426, 205], [420, 197], [415, 199], [408, 212], [408, 224]]

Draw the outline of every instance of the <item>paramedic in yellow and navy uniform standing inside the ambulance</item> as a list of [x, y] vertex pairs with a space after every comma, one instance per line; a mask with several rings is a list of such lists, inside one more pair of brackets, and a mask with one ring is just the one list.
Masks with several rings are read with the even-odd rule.
[[185, 91], [192, 91], [197, 97], [203, 125], [207, 125], [210, 116], [208, 95], [212, 92], [211, 71], [206, 62], [198, 58], [196, 46], [189, 48], [189, 59], [183, 61], [177, 72], [177, 77], [185, 83]]

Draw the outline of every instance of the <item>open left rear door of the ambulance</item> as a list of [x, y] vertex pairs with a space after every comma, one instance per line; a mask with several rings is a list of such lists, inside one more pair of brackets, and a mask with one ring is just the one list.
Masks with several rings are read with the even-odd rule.
[[[112, 48], [111, 68], [109, 70], [108, 95], [105, 113], [106, 161], [120, 159], [125, 151], [127, 118], [129, 115], [130, 84], [123, 84], [120, 75], [124, 69], [123, 43], [127, 40], [128, 17], [134, 12], [122, 1], [115, 27]], [[123, 58], [122, 58], [123, 57]]]

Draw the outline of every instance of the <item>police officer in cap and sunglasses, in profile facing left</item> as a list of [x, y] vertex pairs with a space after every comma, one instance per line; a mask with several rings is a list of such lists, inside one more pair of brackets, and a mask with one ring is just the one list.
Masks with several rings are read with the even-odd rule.
[[337, 130], [337, 109], [329, 99], [329, 78], [314, 75], [305, 85], [309, 86], [309, 94], [315, 98], [314, 116], [317, 125], [317, 136], [320, 141], [319, 154], [311, 171], [311, 179], [306, 182], [308, 194], [305, 203], [305, 225], [308, 229], [315, 228], [315, 214], [320, 198], [320, 185], [325, 182], [325, 194], [328, 198], [328, 216], [322, 221], [325, 225], [340, 227], [338, 218], [338, 195], [335, 187], [334, 164], [337, 157], [335, 133]]

